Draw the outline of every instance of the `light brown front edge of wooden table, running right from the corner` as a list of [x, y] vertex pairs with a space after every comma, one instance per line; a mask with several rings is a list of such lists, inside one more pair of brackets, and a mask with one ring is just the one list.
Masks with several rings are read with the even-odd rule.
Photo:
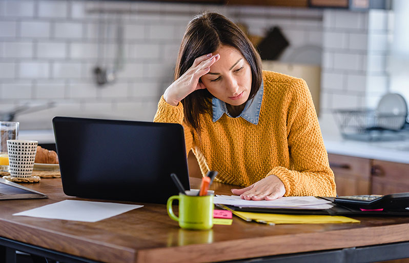
[[[136, 262], [216, 262], [409, 241], [409, 223], [139, 250]], [[355, 237], [357, 239], [355, 239]], [[359, 238], [359, 239], [358, 239]], [[293, 244], [293, 245], [288, 245]], [[273, 249], [271, 249], [273, 248]]]

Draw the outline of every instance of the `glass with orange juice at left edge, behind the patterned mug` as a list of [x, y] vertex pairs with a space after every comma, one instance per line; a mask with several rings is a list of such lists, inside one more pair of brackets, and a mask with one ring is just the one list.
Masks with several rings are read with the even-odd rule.
[[0, 172], [9, 172], [7, 140], [18, 139], [19, 122], [0, 121]]

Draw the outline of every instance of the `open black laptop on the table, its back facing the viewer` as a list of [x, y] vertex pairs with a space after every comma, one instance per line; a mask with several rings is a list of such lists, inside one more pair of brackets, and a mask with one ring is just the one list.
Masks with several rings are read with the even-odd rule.
[[180, 124], [54, 117], [53, 128], [66, 195], [166, 203], [179, 193], [171, 173], [190, 190]]

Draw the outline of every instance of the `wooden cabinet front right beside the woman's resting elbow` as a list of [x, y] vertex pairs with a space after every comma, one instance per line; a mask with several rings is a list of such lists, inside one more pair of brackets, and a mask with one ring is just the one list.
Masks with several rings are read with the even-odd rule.
[[371, 160], [329, 154], [338, 196], [371, 194]]

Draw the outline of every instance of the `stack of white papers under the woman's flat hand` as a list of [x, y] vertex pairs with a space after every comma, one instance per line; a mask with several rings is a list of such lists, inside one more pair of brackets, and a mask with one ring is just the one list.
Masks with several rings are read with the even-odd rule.
[[329, 209], [331, 201], [316, 198], [314, 196], [289, 196], [281, 197], [273, 201], [244, 200], [239, 196], [216, 195], [213, 199], [215, 204], [229, 204], [241, 207], [255, 208], [285, 208], [285, 209]]

